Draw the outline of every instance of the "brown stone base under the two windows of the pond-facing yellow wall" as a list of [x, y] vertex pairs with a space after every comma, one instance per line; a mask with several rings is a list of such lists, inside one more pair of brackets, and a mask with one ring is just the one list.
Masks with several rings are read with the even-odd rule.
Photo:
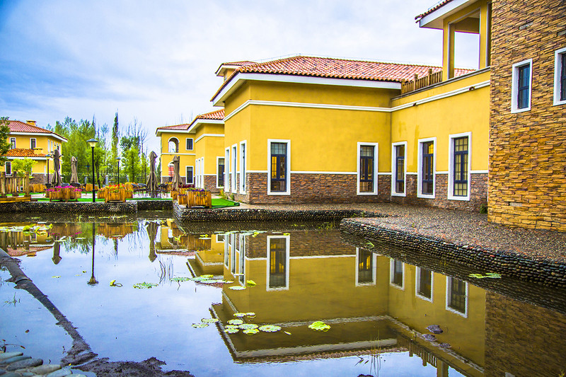
[[246, 195], [237, 200], [250, 204], [376, 203], [389, 202], [391, 176], [378, 175], [378, 195], [357, 195], [354, 174], [291, 174], [291, 195], [267, 195], [267, 173], [247, 174]]

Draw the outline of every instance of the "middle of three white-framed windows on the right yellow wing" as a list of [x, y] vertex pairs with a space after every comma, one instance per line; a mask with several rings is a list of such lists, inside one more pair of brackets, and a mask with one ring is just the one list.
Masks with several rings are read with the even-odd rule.
[[417, 197], [434, 199], [437, 170], [437, 138], [419, 139]]

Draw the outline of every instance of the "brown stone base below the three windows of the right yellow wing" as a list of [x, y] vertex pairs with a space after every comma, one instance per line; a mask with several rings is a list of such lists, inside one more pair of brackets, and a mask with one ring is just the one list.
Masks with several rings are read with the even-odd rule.
[[448, 174], [437, 174], [434, 182], [434, 199], [417, 197], [417, 175], [407, 175], [405, 197], [391, 197], [391, 202], [397, 204], [412, 204], [426, 207], [439, 207], [444, 209], [461, 209], [465, 211], [480, 211], [482, 205], [487, 204], [487, 174], [471, 175], [470, 200], [448, 199]]

